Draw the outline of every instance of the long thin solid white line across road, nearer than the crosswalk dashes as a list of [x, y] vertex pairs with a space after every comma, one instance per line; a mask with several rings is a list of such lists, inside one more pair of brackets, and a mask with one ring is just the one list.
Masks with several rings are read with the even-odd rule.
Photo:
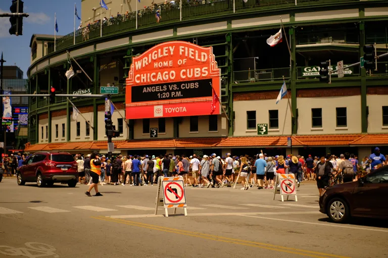
[[[245, 212], [245, 213], [190, 213], [190, 216], [242, 216], [242, 215], [289, 215], [289, 214], [320, 214], [320, 212]], [[180, 216], [181, 214], [178, 214]], [[176, 215], [171, 215], [176, 216]], [[105, 216], [112, 219], [133, 219], [133, 218], [153, 218], [153, 217], [164, 217], [164, 215], [153, 215], [153, 214], [132, 214], [132, 215], [112, 215]]]

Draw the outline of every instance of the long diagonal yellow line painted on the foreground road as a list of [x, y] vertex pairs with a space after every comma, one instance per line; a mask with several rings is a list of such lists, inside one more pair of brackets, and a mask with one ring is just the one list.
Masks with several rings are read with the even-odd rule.
[[129, 226], [136, 226], [136, 227], [148, 228], [148, 229], [164, 231], [164, 232], [169, 232], [169, 233], [175, 233], [175, 234], [181, 234], [181, 235], [186, 235], [186, 236], [199, 237], [199, 238], [204, 238], [204, 239], [209, 239], [209, 240], [214, 240], [214, 241], [234, 243], [234, 244], [246, 245], [246, 246], [253, 246], [253, 247], [259, 247], [259, 248], [263, 248], [263, 249], [280, 251], [280, 252], [287, 252], [287, 253], [293, 253], [293, 254], [301, 254], [301, 255], [305, 255], [305, 256], [309, 256], [309, 257], [349, 258], [347, 256], [340, 256], [340, 255], [334, 255], [334, 254], [329, 254], [329, 253], [322, 253], [322, 252], [309, 251], [309, 250], [303, 250], [303, 249], [297, 249], [297, 248], [291, 248], [291, 247], [284, 247], [284, 246], [279, 246], [279, 245], [254, 242], [254, 241], [248, 241], [248, 240], [242, 240], [242, 239], [234, 239], [234, 238], [228, 238], [228, 237], [223, 237], [223, 236], [210, 235], [210, 234], [205, 234], [205, 233], [192, 232], [192, 231], [186, 231], [186, 230], [181, 230], [181, 229], [157, 226], [157, 225], [152, 225], [152, 224], [145, 224], [145, 223], [140, 223], [140, 222], [135, 222], [135, 221], [128, 221], [128, 220], [122, 220], [122, 219], [112, 219], [112, 218], [108, 218], [108, 217], [91, 217], [91, 218], [109, 221], [109, 222], [116, 222], [116, 223], [125, 224], [125, 225], [129, 225]]

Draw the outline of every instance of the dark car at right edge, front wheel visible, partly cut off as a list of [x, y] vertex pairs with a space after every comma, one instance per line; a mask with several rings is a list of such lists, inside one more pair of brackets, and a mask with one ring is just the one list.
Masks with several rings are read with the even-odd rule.
[[319, 198], [319, 211], [336, 223], [350, 217], [388, 219], [387, 196], [388, 166], [383, 166], [358, 181], [326, 188]]

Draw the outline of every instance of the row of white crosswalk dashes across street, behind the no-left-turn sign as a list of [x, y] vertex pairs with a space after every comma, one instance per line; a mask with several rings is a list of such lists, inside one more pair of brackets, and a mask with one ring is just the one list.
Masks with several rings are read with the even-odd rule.
[[[0, 207], [0, 215], [9, 215], [9, 214], [23, 214], [28, 211], [36, 211], [42, 213], [69, 213], [76, 211], [89, 211], [89, 212], [98, 212], [102, 213], [102, 215], [106, 215], [107, 213], [133, 213], [136, 210], [142, 211], [146, 213], [152, 213], [155, 210], [155, 207], [152, 206], [137, 206], [137, 205], [103, 205], [102, 206], [71, 206], [63, 209], [64, 207], [50, 207], [50, 206], [34, 206], [34, 207], [25, 207], [26, 209], [21, 208], [20, 210], [9, 209], [6, 207]], [[239, 204], [236, 206], [232, 205], [220, 205], [220, 204], [200, 204], [200, 207], [197, 206], [187, 206], [188, 210], [198, 210], [207, 212], [209, 210], [224, 210], [224, 211], [241, 211], [241, 212], [251, 212], [255, 210], [260, 211], [274, 211], [276, 210], [289, 210], [290, 208], [296, 208], [298, 210], [317, 210], [319, 209], [318, 205], [304, 205], [298, 203], [281, 203], [276, 205], [266, 205], [266, 204]]]

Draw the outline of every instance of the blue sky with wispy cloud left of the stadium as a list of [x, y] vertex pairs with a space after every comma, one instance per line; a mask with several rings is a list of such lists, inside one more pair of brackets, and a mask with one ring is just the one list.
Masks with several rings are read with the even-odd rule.
[[[9, 13], [12, 0], [0, 0], [0, 13]], [[54, 13], [57, 13], [58, 33], [66, 35], [74, 29], [74, 3], [78, 15], [81, 14], [81, 0], [24, 0], [23, 35], [10, 35], [9, 17], [0, 17], [0, 52], [7, 61], [5, 66], [18, 66], [27, 78], [27, 69], [31, 62], [30, 40], [32, 34], [54, 35]], [[76, 19], [76, 28], [79, 25]]]

